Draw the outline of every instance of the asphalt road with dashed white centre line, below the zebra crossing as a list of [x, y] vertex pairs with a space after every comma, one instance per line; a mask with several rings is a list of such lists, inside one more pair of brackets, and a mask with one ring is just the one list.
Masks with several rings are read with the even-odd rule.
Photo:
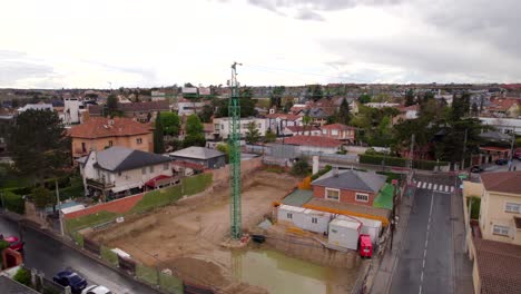
[[454, 293], [451, 194], [416, 189], [391, 293]]

